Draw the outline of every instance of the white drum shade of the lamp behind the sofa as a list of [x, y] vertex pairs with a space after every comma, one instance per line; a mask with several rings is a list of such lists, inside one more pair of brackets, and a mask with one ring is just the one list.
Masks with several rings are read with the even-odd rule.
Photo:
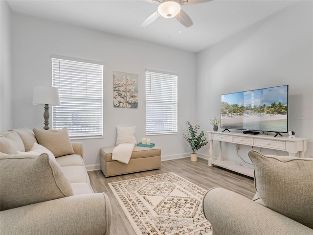
[[57, 87], [35, 87], [33, 104], [60, 105], [59, 89]]

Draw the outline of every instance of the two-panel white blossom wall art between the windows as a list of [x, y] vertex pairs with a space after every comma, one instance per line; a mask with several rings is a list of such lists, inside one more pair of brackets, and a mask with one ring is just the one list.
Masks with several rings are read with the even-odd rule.
[[113, 106], [138, 107], [138, 74], [113, 71]]

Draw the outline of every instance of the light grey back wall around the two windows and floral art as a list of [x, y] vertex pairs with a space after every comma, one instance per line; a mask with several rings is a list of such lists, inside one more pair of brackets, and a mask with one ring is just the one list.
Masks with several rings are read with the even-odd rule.
[[[115, 144], [117, 125], [137, 126], [138, 142], [145, 137], [145, 69], [179, 74], [179, 134], [150, 139], [161, 147], [162, 159], [189, 152], [182, 131], [185, 121], [194, 118], [195, 53], [18, 13], [13, 14], [12, 30], [14, 128], [43, 128], [44, 107], [32, 105], [33, 89], [51, 85], [50, 58], [59, 55], [105, 64], [104, 137], [82, 140], [86, 165], [99, 164], [100, 148]], [[137, 109], [113, 108], [113, 71], [139, 74]], [[50, 127], [51, 122], [50, 115]]]

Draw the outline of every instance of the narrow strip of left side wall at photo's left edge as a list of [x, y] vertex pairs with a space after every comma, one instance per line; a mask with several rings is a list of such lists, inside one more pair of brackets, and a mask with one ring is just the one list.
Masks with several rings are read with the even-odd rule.
[[11, 9], [6, 1], [0, 1], [0, 129], [13, 128], [12, 109], [12, 51]]

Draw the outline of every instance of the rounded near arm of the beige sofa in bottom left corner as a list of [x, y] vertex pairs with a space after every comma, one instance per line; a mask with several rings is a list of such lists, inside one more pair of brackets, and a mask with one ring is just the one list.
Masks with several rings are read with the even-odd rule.
[[59, 198], [1, 211], [3, 235], [109, 235], [112, 214], [105, 193]]

